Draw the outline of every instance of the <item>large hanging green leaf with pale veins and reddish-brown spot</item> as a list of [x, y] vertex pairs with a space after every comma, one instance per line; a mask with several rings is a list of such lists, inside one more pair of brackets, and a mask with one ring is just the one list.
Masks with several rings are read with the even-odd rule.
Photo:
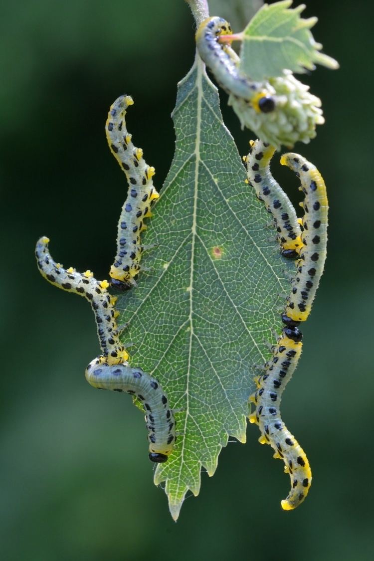
[[176, 448], [154, 476], [177, 519], [201, 468], [213, 475], [229, 436], [246, 440], [255, 365], [280, 332], [289, 273], [200, 59], [179, 83], [173, 119], [176, 153], [145, 236], [156, 244], [142, 260], [149, 270], [117, 305], [130, 364], [159, 378], [177, 410]]

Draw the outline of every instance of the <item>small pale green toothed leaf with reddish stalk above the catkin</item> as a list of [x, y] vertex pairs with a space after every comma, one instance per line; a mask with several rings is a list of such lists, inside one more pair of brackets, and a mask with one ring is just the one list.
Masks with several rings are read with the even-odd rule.
[[281, 76], [284, 70], [314, 70], [315, 63], [338, 68], [338, 62], [320, 52], [310, 31], [317, 18], [303, 20], [304, 4], [289, 9], [292, 0], [264, 4], [243, 31], [239, 70], [252, 80]]

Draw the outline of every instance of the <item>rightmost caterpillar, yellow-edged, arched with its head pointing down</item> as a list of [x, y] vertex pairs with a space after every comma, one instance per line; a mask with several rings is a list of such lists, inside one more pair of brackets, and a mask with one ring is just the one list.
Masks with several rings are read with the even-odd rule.
[[327, 201], [325, 182], [312, 163], [299, 154], [284, 154], [280, 163], [287, 165], [300, 178], [305, 197], [301, 203], [304, 209], [302, 219], [303, 234], [300, 259], [297, 261], [297, 275], [291, 295], [287, 298], [284, 323], [297, 325], [310, 314], [321, 275], [324, 271], [327, 243]]

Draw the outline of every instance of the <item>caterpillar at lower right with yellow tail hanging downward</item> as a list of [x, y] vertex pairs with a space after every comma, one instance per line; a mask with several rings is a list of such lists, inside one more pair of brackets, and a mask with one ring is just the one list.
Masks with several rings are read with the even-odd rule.
[[249, 419], [261, 431], [259, 442], [270, 444], [274, 458], [283, 459], [285, 473], [289, 473], [291, 489], [281, 507], [290, 511], [306, 498], [311, 486], [312, 472], [303, 449], [289, 432], [280, 415], [281, 395], [290, 380], [302, 351], [301, 332], [297, 327], [284, 328], [273, 358], [266, 364], [265, 374], [258, 377], [257, 390], [250, 397], [256, 406]]

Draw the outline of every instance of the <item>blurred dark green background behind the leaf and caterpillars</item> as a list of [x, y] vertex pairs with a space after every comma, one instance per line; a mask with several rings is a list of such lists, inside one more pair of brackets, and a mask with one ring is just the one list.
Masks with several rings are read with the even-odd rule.
[[[3, 559], [373, 558], [374, 14], [369, 2], [313, 0], [312, 15], [316, 40], [341, 64], [305, 77], [326, 125], [297, 145], [324, 174], [331, 208], [326, 273], [283, 406], [308, 452], [312, 490], [297, 511], [281, 511], [288, 477], [250, 427], [174, 523], [145, 460], [140, 413], [84, 379], [98, 354], [89, 306], [41, 279], [34, 245], [48, 234], [57, 260], [107, 276], [125, 185], [105, 140], [108, 107], [133, 96], [129, 128], [161, 185], [176, 84], [193, 61], [192, 17], [183, 0], [2, 2]], [[244, 154], [248, 134], [222, 98]]]

